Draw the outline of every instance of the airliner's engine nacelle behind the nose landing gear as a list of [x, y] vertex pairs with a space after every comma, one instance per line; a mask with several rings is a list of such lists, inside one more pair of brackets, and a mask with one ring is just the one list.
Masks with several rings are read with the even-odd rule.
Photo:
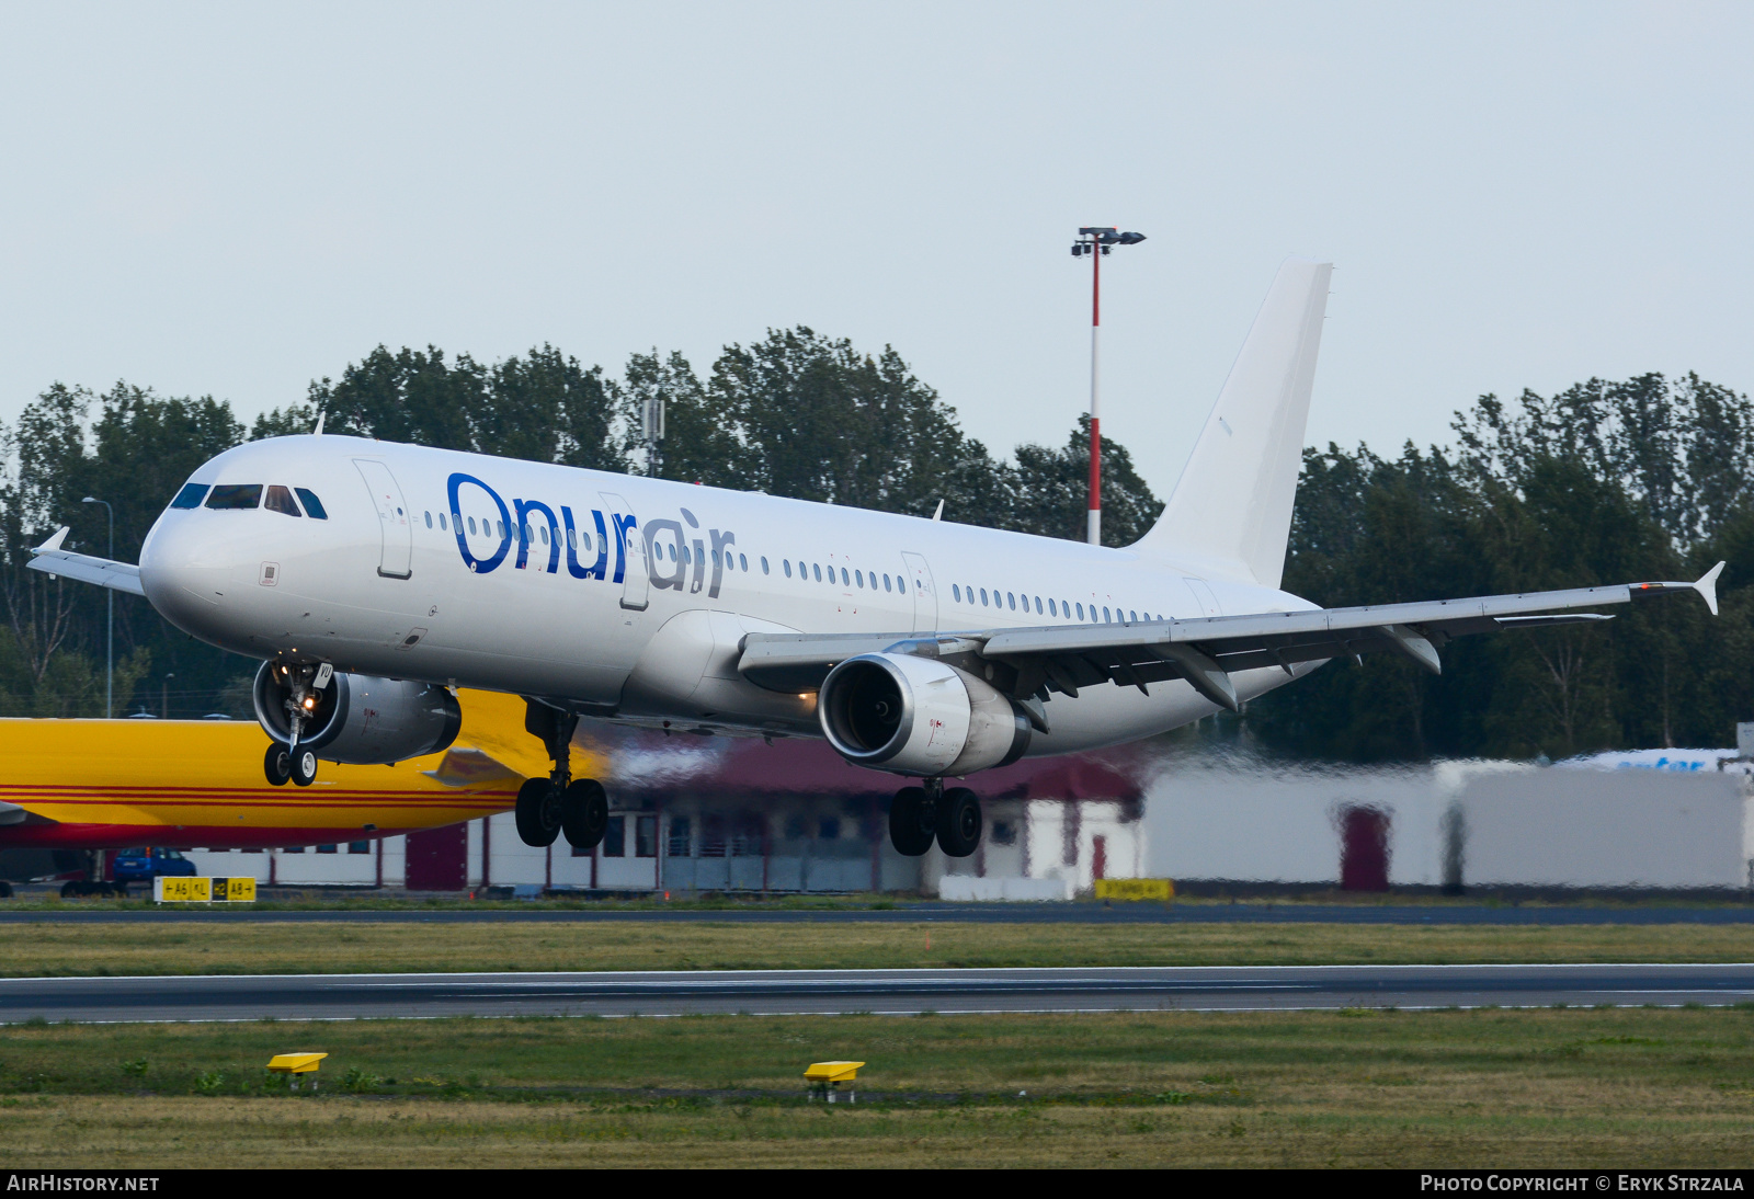
[[[256, 720], [281, 745], [293, 736], [289, 698], [286, 668], [263, 663], [254, 685]], [[433, 684], [335, 671], [328, 687], [307, 698], [316, 703], [305, 712], [298, 743], [330, 763], [370, 766], [437, 754], [463, 727], [456, 696]]]

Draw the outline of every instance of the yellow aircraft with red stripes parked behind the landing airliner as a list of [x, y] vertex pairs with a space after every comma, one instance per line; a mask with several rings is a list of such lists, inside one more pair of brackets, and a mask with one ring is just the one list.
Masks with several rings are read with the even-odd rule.
[[[446, 752], [324, 766], [310, 787], [268, 785], [254, 722], [0, 719], [0, 848], [277, 848], [505, 812], [524, 778], [547, 775], [547, 754], [517, 696], [458, 701], [463, 727]], [[579, 750], [574, 768], [596, 773]]]

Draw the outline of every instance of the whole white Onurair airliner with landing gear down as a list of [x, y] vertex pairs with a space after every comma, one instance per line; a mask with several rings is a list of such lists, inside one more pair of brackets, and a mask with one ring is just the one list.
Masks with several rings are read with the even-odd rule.
[[319, 431], [203, 465], [139, 566], [61, 549], [65, 528], [32, 566], [263, 659], [275, 784], [444, 748], [456, 687], [524, 696], [554, 771], [519, 794], [519, 834], [577, 847], [609, 819], [602, 785], [572, 778], [581, 715], [826, 736], [921, 780], [891, 805], [902, 854], [966, 855], [980, 803], [945, 778], [1235, 712], [1330, 657], [1437, 671], [1452, 636], [1677, 589], [1717, 612], [1721, 563], [1694, 584], [1370, 608], [1280, 591], [1330, 272], [1279, 270], [1163, 515], [1126, 549]]

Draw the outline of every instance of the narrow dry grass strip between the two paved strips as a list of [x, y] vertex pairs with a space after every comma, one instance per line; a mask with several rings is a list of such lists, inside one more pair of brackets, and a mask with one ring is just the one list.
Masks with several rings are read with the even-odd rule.
[[0, 924], [0, 975], [1745, 962], [1710, 924]]

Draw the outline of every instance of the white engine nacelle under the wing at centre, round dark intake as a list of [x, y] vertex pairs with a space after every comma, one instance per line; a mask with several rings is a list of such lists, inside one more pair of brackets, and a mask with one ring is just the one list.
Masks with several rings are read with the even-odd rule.
[[842, 757], [898, 775], [968, 775], [1030, 748], [1030, 720], [1007, 696], [912, 654], [849, 657], [823, 680], [816, 712]]

